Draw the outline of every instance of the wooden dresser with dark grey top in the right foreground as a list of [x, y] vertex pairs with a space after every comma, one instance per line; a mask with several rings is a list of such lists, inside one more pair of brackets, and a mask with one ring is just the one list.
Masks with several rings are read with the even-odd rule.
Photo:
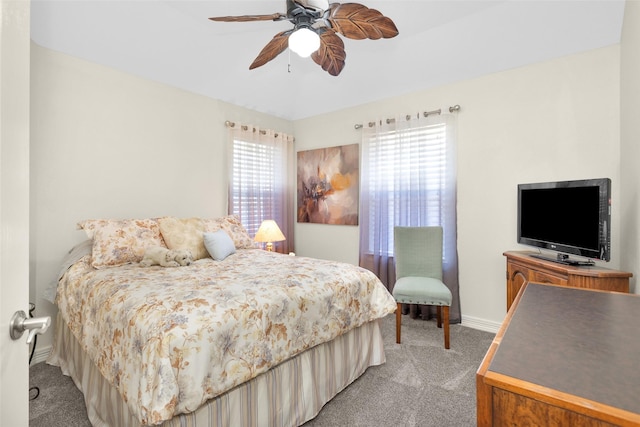
[[640, 426], [640, 296], [527, 283], [476, 373], [478, 426]]

